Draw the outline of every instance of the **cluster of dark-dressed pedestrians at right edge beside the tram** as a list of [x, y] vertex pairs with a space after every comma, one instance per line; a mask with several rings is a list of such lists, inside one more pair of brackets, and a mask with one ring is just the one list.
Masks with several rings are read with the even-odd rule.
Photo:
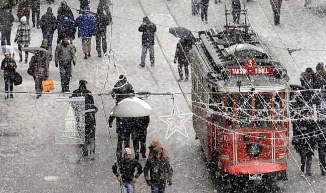
[[[318, 160], [321, 175], [326, 175], [326, 136], [322, 129], [326, 126], [324, 118], [314, 118], [314, 114], [325, 114], [326, 92], [326, 72], [324, 64], [318, 62], [314, 72], [311, 67], [305, 69], [300, 75], [301, 86], [303, 90], [300, 94], [295, 95], [290, 103], [293, 109], [300, 109], [292, 112], [294, 120], [292, 144], [299, 153], [301, 159], [301, 171], [311, 175], [312, 156], [314, 149], [318, 149]], [[321, 89], [319, 93], [311, 89]], [[317, 113], [314, 112], [313, 106], [316, 106]], [[319, 117], [319, 116], [318, 116]]]

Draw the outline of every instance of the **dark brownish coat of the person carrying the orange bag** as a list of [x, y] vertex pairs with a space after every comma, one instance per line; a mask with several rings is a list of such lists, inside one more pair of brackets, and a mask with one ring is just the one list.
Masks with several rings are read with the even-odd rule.
[[30, 60], [30, 66], [33, 66], [34, 77], [48, 77], [49, 76], [49, 60], [45, 55], [34, 55]]

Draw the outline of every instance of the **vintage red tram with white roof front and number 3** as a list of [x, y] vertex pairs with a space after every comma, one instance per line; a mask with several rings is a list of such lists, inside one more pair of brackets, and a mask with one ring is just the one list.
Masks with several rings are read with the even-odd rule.
[[219, 32], [199, 31], [190, 53], [193, 125], [221, 180], [286, 179], [289, 77], [245, 13], [243, 24], [226, 19]]

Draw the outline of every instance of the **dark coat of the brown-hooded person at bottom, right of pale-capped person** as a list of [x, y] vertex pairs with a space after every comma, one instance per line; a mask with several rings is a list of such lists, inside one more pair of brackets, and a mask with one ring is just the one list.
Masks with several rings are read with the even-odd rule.
[[[149, 176], [148, 176], [149, 172]], [[160, 156], [158, 159], [148, 158], [144, 166], [145, 180], [150, 180], [151, 183], [163, 183], [172, 179], [173, 169], [169, 160], [165, 156]]]

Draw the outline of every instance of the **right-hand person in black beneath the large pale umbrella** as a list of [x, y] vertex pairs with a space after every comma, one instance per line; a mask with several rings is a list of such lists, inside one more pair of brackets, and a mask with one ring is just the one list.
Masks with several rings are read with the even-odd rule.
[[146, 137], [148, 124], [149, 116], [133, 117], [131, 139], [136, 160], [139, 159], [139, 153], [141, 154], [142, 158], [146, 158]]

